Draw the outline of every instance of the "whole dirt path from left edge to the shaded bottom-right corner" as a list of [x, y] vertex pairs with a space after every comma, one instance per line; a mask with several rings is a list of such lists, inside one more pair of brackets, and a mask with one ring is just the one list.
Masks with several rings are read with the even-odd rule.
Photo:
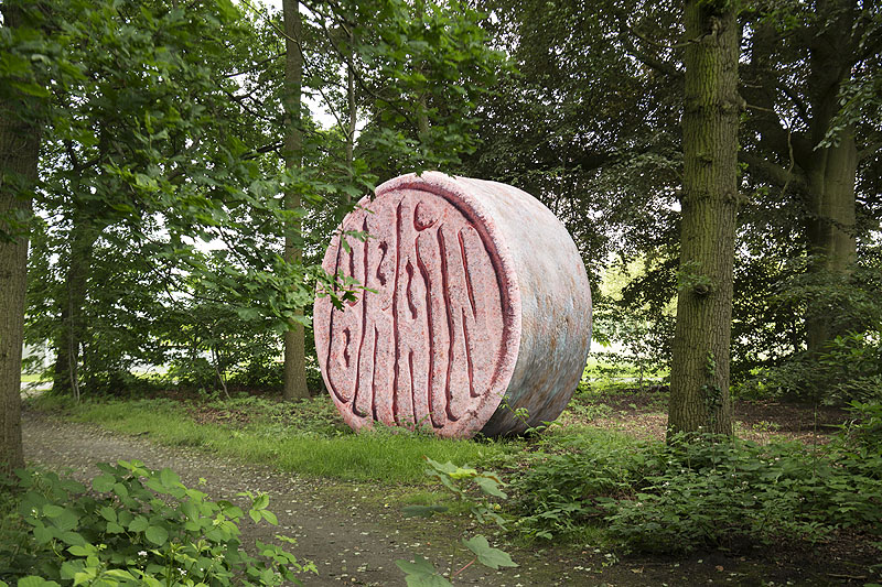
[[[69, 469], [79, 479], [98, 472], [95, 463], [139, 459], [150, 468], [174, 469], [187, 486], [204, 478], [204, 490], [215, 500], [229, 499], [245, 506], [236, 497], [238, 492], [268, 493], [279, 526], [255, 525], [246, 517], [241, 523], [244, 542], [267, 541], [278, 533], [295, 537], [299, 544], [293, 552], [319, 567], [319, 576], [303, 577], [308, 586], [404, 586], [404, 574], [395, 565], [398, 558], [422, 555], [450, 573], [471, 559], [471, 553], [460, 544], [461, 537], [484, 533], [491, 543], [496, 542], [486, 529], [466, 531], [462, 521], [452, 523], [450, 518], [402, 518], [401, 504], [389, 499], [388, 488], [381, 486], [299, 477], [275, 470], [271, 464], [244, 465], [195, 447], [161, 446], [144, 436], [126, 436], [31, 411], [25, 411], [22, 424], [30, 463], [58, 471]], [[612, 554], [588, 544], [584, 550], [503, 547], [519, 567], [494, 572], [473, 565], [455, 578], [454, 585], [861, 585], [865, 578], [849, 576], [854, 573], [848, 568], [841, 572], [817, 563], [806, 565], [805, 556], [786, 561], [764, 558], [762, 554], [744, 558], [711, 553], [680, 561], [625, 557], [610, 565]]]

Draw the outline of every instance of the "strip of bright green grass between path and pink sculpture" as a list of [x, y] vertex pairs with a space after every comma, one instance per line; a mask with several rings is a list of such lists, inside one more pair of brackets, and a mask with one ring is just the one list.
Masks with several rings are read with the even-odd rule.
[[[316, 412], [312, 402], [293, 404]], [[54, 405], [53, 405], [54, 402]], [[256, 422], [244, 426], [197, 423], [185, 405], [169, 400], [86, 402], [79, 405], [46, 399], [43, 409], [63, 407], [68, 417], [100, 424], [123, 434], [147, 434], [170, 446], [200, 447], [248, 463], [271, 464], [278, 469], [309, 476], [380, 483], [418, 483], [426, 480], [423, 456], [444, 463], [483, 467], [514, 453], [519, 445], [502, 442], [475, 442], [435, 438], [407, 431], [377, 430], [355, 434], [320, 425], [315, 432], [302, 426], [271, 425], [278, 414], [256, 415]], [[260, 404], [248, 402], [259, 412]], [[301, 430], [303, 428], [303, 430]]]

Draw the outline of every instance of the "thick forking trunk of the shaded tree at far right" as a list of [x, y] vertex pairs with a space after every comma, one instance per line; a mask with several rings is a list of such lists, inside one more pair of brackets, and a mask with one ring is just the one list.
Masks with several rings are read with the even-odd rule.
[[[802, 43], [800, 51], [808, 48], [807, 78], [796, 81], [799, 85], [777, 68], [786, 58], [787, 46], [773, 25], [761, 22], [751, 40], [745, 93], [756, 108], [751, 112], [747, 134], [759, 131], [757, 146], [763, 153], [744, 153], [743, 160], [754, 178], [779, 188], [786, 186], [784, 195], [795, 195], [804, 204], [803, 230], [813, 257], [808, 272], [815, 283], [848, 276], [857, 256], [858, 133], [853, 126], [847, 127], [836, 144], [820, 143], [842, 107], [840, 90], [861, 58], [861, 30], [856, 26], [861, 10], [867, 9], [854, 0], [819, 0], [816, 20], [789, 31]], [[797, 117], [788, 123], [789, 129], [782, 126], [775, 110], [782, 93]], [[805, 343], [809, 352], [820, 352], [848, 328], [843, 320], [832, 319], [835, 312], [828, 300], [808, 300], [800, 348]]]

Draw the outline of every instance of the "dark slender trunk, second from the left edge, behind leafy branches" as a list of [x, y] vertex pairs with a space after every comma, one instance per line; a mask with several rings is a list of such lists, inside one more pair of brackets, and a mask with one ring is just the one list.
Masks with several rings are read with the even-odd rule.
[[52, 391], [71, 393], [79, 401], [79, 347], [86, 334], [86, 289], [98, 232], [80, 210], [73, 215], [71, 259], [61, 301], [61, 329], [55, 341]]

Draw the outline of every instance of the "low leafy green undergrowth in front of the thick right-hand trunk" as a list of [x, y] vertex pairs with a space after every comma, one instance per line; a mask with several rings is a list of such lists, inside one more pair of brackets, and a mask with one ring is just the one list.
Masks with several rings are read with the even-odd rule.
[[[878, 406], [865, 407], [873, 434]], [[652, 552], [740, 548], [825, 540], [839, 529], [878, 531], [880, 445], [840, 438], [824, 452], [799, 444], [677, 437], [622, 450], [602, 444], [541, 457], [516, 482], [518, 528], [549, 539], [580, 524]]]

